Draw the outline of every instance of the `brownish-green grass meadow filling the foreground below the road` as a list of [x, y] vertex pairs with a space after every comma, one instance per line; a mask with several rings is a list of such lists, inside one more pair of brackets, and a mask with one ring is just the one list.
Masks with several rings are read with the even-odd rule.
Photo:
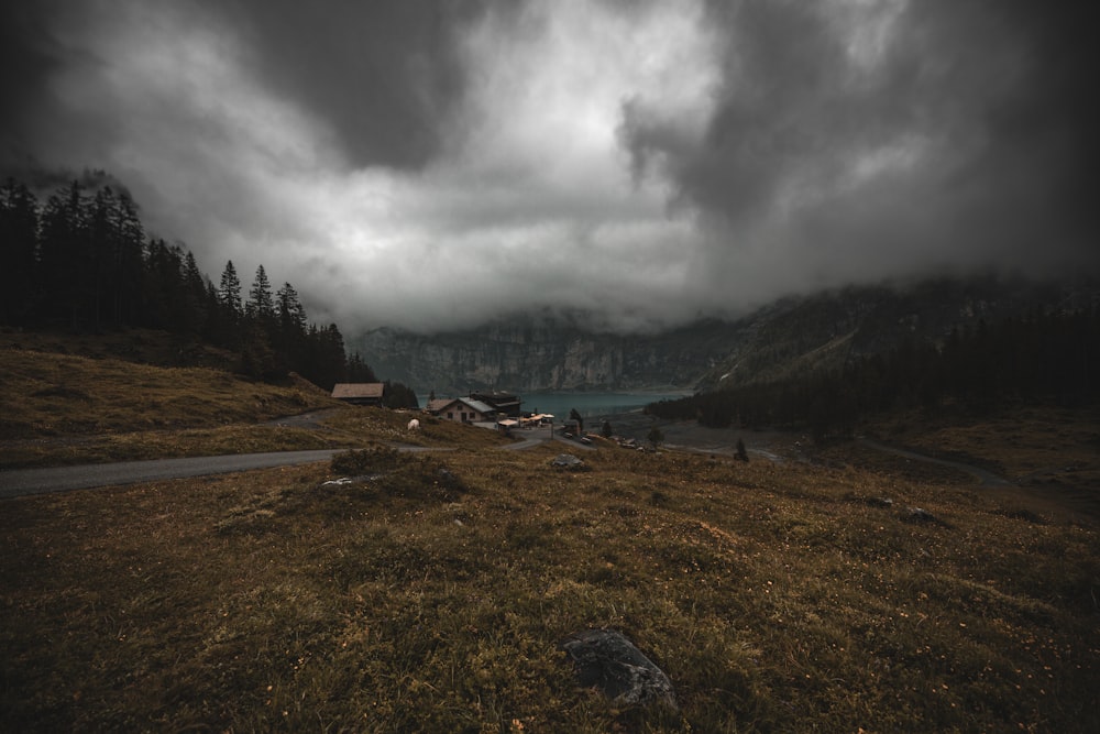
[[[404, 420], [329, 425], [381, 447]], [[454, 450], [0, 504], [4, 727], [1100, 731], [1088, 522], [888, 461], [600, 448], [569, 472], [560, 446], [418, 440]], [[679, 710], [578, 688], [558, 644], [591, 627]]]

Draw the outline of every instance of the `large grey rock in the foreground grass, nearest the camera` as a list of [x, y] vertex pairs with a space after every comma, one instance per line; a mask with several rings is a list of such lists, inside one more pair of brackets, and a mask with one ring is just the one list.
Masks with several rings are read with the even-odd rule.
[[616, 705], [663, 703], [678, 709], [669, 677], [614, 629], [587, 629], [561, 643], [576, 667], [576, 681], [596, 687]]

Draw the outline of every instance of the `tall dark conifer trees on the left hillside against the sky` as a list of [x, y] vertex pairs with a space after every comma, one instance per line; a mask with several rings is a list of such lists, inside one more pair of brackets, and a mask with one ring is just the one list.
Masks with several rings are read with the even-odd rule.
[[[289, 283], [273, 289], [261, 265], [244, 295], [230, 261], [216, 286], [184, 245], [148, 237], [138, 205], [110, 186], [74, 182], [45, 204], [20, 182], [0, 188], [0, 324], [162, 329], [238, 353], [257, 380], [376, 381], [336, 324], [308, 321]], [[403, 387], [391, 387], [392, 402], [407, 402]]]

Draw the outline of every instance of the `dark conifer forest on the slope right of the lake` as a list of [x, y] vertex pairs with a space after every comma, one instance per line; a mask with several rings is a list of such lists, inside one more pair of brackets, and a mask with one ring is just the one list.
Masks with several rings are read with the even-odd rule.
[[650, 405], [667, 419], [710, 427], [809, 429], [851, 436], [864, 419], [947, 405], [977, 415], [1014, 403], [1100, 399], [1100, 313], [1036, 313], [952, 331], [942, 343], [909, 339], [843, 370], [754, 383]]

